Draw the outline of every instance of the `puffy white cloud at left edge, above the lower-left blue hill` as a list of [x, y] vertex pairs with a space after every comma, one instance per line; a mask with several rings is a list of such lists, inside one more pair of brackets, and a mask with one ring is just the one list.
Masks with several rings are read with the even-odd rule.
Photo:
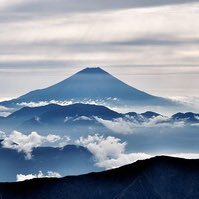
[[18, 152], [25, 153], [27, 159], [31, 159], [33, 148], [44, 146], [46, 144], [54, 144], [63, 147], [69, 142], [67, 136], [60, 137], [58, 135], [49, 134], [47, 136], [39, 135], [37, 132], [32, 132], [29, 135], [22, 134], [18, 131], [13, 131], [10, 135], [4, 136], [2, 146], [4, 148], [14, 149]]

